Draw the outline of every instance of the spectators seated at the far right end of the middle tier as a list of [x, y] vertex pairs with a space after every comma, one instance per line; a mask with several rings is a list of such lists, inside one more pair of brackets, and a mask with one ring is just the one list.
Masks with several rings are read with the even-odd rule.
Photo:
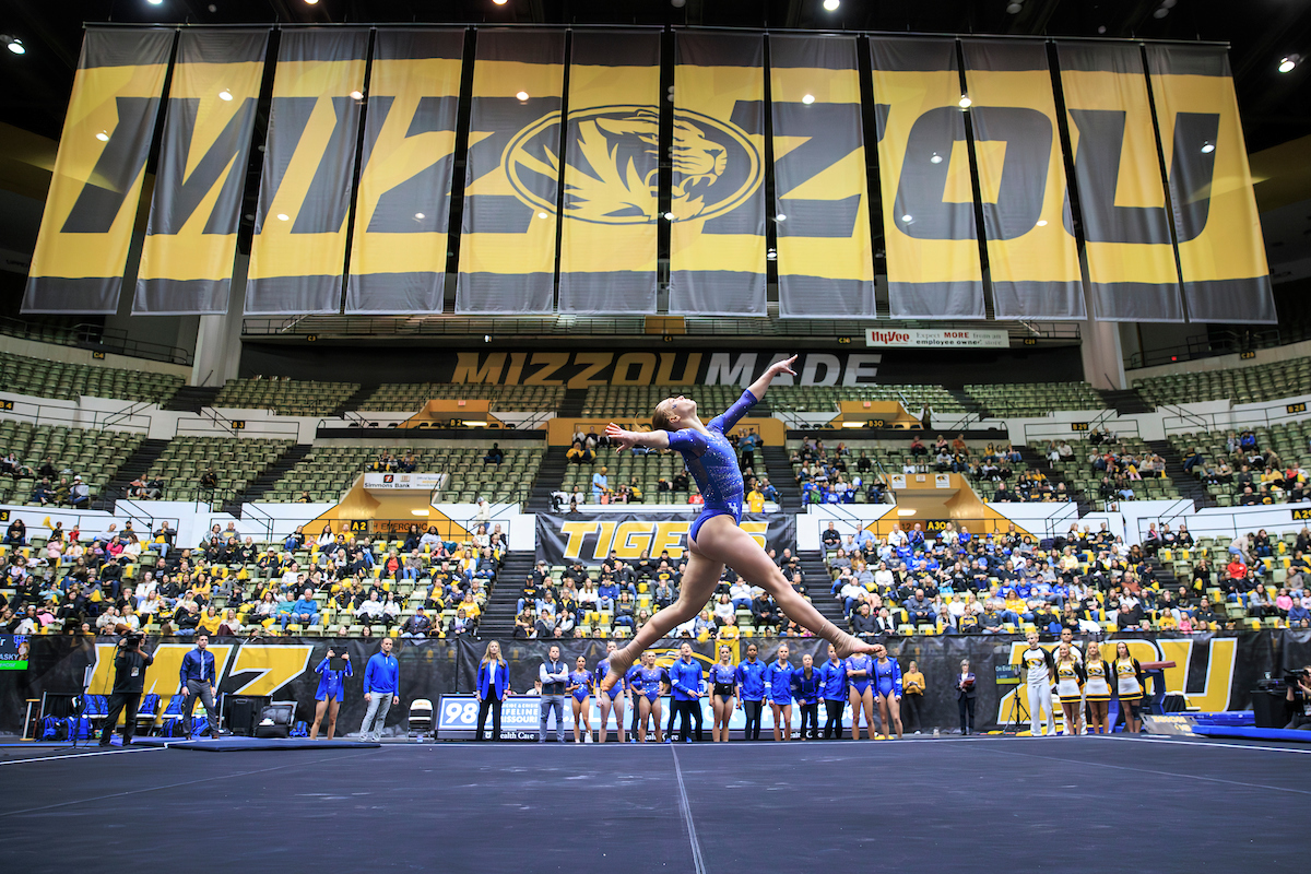
[[1270, 447], [1261, 448], [1255, 431], [1230, 431], [1224, 451], [1217, 456], [1193, 447], [1184, 453], [1184, 470], [1207, 486], [1232, 489], [1236, 503], [1244, 507], [1311, 501], [1307, 470]]

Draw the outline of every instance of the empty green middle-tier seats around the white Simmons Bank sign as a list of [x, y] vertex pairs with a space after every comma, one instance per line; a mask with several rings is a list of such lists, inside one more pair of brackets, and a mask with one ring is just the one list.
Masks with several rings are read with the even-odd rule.
[[484, 465], [482, 457], [490, 447], [490, 440], [459, 448], [315, 447], [305, 459], [274, 484], [262, 499], [270, 503], [290, 503], [299, 501], [302, 493], [308, 491], [312, 501], [337, 501], [355, 477], [366, 469], [372, 469], [383, 452], [391, 452], [397, 459], [413, 452], [418, 473], [450, 473], [451, 478], [442, 491], [443, 501], [473, 503], [482, 497], [494, 503], [522, 499], [532, 485], [544, 449], [511, 446], [503, 449], [505, 461], [499, 465]]

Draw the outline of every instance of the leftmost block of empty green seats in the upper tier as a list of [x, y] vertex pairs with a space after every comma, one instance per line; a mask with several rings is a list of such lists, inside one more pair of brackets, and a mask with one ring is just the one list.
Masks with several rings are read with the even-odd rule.
[[114, 367], [64, 364], [25, 355], [4, 355], [0, 358], [0, 384], [10, 392], [33, 397], [71, 401], [87, 394], [164, 404], [182, 388], [182, 377]]

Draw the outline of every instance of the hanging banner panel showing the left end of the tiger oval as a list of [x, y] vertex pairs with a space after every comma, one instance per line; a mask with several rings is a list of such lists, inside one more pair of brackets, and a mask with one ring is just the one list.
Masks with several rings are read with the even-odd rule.
[[555, 308], [561, 30], [480, 30], [460, 225], [458, 313]]

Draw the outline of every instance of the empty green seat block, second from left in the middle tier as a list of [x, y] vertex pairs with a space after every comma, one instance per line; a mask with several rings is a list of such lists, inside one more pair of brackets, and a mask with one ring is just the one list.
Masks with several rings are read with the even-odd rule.
[[264, 438], [180, 436], [169, 442], [164, 453], [146, 474], [146, 480], [163, 480], [165, 501], [208, 499], [201, 493], [201, 476], [214, 466], [218, 474], [216, 498], [245, 489], [261, 470], [292, 446], [291, 440]]

